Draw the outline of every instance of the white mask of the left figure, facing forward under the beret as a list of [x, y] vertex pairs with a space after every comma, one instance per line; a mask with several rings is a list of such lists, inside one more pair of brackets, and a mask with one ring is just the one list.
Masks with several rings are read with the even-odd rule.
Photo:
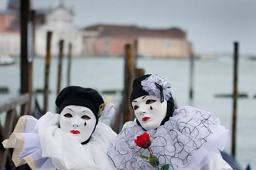
[[69, 105], [60, 112], [61, 130], [74, 136], [80, 143], [89, 139], [95, 124], [96, 117], [87, 107]]

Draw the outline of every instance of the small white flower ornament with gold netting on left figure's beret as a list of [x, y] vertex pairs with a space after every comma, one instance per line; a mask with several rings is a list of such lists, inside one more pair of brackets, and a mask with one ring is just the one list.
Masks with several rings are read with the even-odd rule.
[[104, 103], [100, 104], [98, 116], [99, 117], [110, 117], [114, 114], [114, 104], [111, 103], [113, 101], [113, 97], [103, 96]]

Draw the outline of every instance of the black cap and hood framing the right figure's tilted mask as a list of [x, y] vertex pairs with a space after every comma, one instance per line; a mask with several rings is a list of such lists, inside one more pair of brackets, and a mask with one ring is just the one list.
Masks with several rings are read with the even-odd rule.
[[[150, 94], [148, 94], [147, 91], [142, 89], [143, 86], [141, 85], [141, 81], [145, 80], [149, 76], [151, 76], [151, 74], [146, 74], [146, 75], [143, 75], [143, 76], [140, 76], [140, 77], [134, 79], [134, 81], [133, 81], [133, 90], [132, 90], [131, 96], [130, 96], [130, 104], [134, 99], [136, 99], [138, 97], [145, 96], [145, 95], [150, 95]], [[166, 121], [168, 121], [169, 118], [172, 117], [172, 113], [174, 112], [174, 99], [172, 98], [172, 93], [171, 92], [170, 92], [170, 95], [171, 95], [171, 97], [167, 100], [166, 117], [162, 120], [160, 125], [163, 125]], [[132, 104], [131, 104], [131, 107], [132, 107]], [[138, 119], [136, 119], [136, 122], [139, 126], [141, 126], [141, 124], [138, 122]]]

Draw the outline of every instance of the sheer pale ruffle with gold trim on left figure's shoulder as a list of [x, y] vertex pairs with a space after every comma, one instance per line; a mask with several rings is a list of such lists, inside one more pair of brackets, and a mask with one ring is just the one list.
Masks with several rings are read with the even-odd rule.
[[50, 157], [42, 157], [42, 150], [35, 129], [38, 122], [32, 116], [22, 116], [18, 120], [8, 140], [3, 141], [5, 148], [14, 148], [13, 163], [16, 167], [28, 163], [33, 170], [55, 170]]

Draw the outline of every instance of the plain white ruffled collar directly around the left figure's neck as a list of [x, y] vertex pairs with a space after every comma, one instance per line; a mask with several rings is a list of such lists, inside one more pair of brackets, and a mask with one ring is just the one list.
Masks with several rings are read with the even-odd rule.
[[59, 114], [47, 112], [36, 124], [42, 156], [51, 157], [57, 169], [113, 169], [106, 155], [110, 142], [116, 136], [110, 127], [99, 122], [90, 142], [81, 145], [72, 136], [62, 132], [58, 122]]

